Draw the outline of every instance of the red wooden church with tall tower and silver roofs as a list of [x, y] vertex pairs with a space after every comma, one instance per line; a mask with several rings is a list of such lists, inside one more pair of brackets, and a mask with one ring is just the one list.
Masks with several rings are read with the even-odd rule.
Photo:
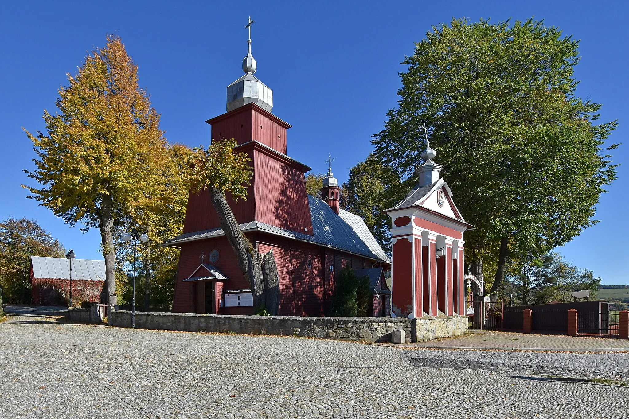
[[[236, 139], [253, 168], [247, 200], [228, 198], [240, 228], [260, 252], [273, 249], [279, 271], [281, 315], [321, 316], [329, 307], [335, 280], [346, 265], [376, 269], [374, 315], [388, 315], [390, 292], [382, 268], [391, 260], [358, 215], [339, 209], [340, 188], [331, 169], [323, 200], [306, 193], [310, 168], [287, 155], [289, 124], [274, 116], [272, 90], [253, 73], [251, 55], [245, 75], [227, 87], [227, 112], [209, 119], [213, 141]], [[252, 295], [214, 210], [209, 193], [191, 194], [183, 234], [165, 243], [181, 248], [174, 312], [253, 314]]]

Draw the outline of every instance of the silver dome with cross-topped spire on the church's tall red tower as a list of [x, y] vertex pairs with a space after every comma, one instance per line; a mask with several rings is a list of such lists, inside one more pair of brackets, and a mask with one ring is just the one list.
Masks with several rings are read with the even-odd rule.
[[249, 18], [249, 23], [245, 26], [249, 30], [249, 38], [247, 40], [248, 53], [247, 57], [242, 60], [242, 70], [245, 72], [245, 75], [227, 86], [228, 112], [252, 102], [265, 111], [270, 112], [273, 109], [273, 90], [269, 89], [253, 75], [257, 69], [257, 63], [251, 54], [252, 23], [253, 21]]

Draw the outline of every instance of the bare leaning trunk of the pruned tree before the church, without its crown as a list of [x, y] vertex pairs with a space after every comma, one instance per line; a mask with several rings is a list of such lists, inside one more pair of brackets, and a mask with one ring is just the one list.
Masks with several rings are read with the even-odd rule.
[[236, 254], [238, 266], [242, 271], [253, 295], [253, 312], [266, 309], [272, 315], [279, 311], [279, 276], [273, 251], [259, 253], [238, 227], [236, 217], [227, 200], [225, 193], [215, 187], [209, 187], [212, 205], [218, 213], [225, 237]]

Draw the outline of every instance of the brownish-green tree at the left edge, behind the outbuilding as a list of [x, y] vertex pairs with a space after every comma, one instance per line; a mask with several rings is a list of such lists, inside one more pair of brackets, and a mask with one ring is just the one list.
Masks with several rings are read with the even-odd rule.
[[1, 222], [0, 289], [4, 302], [30, 301], [31, 256], [64, 258], [65, 249], [35, 220], [9, 217]]

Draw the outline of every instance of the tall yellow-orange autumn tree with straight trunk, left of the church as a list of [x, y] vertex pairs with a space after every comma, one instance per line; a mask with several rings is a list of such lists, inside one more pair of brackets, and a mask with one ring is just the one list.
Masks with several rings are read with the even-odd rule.
[[106, 266], [106, 293], [116, 304], [114, 224], [155, 186], [165, 159], [159, 114], [138, 87], [138, 67], [120, 38], [86, 57], [59, 90], [58, 112], [44, 112], [47, 133], [33, 135], [40, 187], [30, 197], [69, 224], [98, 228]]

